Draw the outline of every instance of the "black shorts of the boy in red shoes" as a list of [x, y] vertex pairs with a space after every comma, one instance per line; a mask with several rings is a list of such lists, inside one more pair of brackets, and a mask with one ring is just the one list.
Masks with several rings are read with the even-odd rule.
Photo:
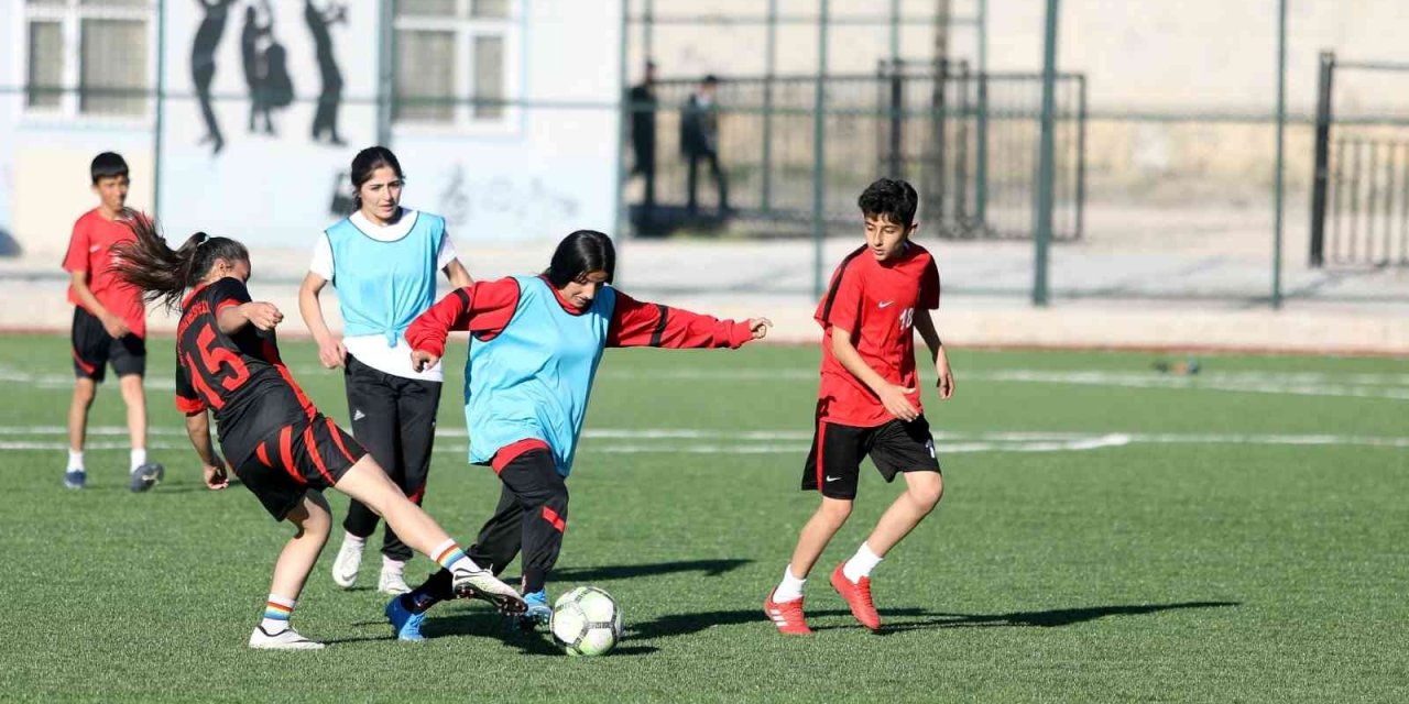
[[881, 476], [893, 482], [902, 472], [938, 472], [934, 438], [924, 415], [905, 422], [855, 427], [817, 420], [812, 452], [802, 470], [803, 491], [820, 490], [827, 498], [852, 500], [861, 479], [861, 459], [871, 456]]

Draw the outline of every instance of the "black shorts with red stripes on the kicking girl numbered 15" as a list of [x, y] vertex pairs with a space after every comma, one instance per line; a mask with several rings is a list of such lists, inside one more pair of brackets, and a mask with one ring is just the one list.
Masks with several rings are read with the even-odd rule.
[[235, 476], [276, 521], [283, 521], [304, 491], [337, 484], [364, 455], [362, 445], [320, 413], [269, 434], [235, 467]]

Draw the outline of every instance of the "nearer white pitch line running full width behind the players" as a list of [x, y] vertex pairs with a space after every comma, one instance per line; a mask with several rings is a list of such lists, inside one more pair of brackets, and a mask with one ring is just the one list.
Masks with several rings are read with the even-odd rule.
[[[121, 427], [89, 428], [90, 435], [113, 438], [125, 435]], [[62, 451], [65, 429], [56, 425], [0, 427], [0, 449], [10, 451]], [[159, 438], [151, 442], [151, 449], [186, 449], [183, 441], [175, 439], [185, 432], [175, 428], [152, 428]], [[465, 438], [464, 429], [441, 431], [441, 438]], [[686, 455], [774, 455], [802, 453], [807, 448], [810, 434], [796, 431], [752, 431], [735, 434], [731, 431], [690, 429], [599, 429], [586, 431], [590, 439], [619, 441], [613, 444], [589, 442], [595, 453], [686, 453]], [[747, 435], [747, 436], [745, 436]], [[48, 439], [45, 436], [54, 436]], [[706, 441], [717, 442], [706, 442]], [[621, 442], [626, 441], [626, 442]], [[685, 441], [685, 442], [661, 442]], [[745, 442], [741, 442], [745, 441]], [[1076, 452], [1127, 445], [1295, 445], [1295, 446], [1375, 446], [1409, 448], [1409, 438], [1367, 436], [1367, 435], [1289, 435], [1289, 434], [1144, 434], [1144, 432], [937, 432], [936, 442], [941, 455], [971, 452]], [[121, 441], [90, 442], [87, 449], [127, 449]], [[464, 455], [466, 442], [440, 442], [437, 452]]]

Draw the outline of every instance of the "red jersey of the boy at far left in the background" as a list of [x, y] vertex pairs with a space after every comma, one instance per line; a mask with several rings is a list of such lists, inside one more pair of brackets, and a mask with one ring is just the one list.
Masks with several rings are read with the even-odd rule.
[[[113, 245], [132, 242], [137, 235], [121, 220], [107, 220], [93, 208], [73, 222], [69, 251], [63, 255], [63, 270], [87, 273], [87, 284], [108, 313], [123, 318], [134, 335], [147, 337], [147, 308], [142, 291], [117, 277], [113, 272]], [[83, 306], [69, 284], [69, 303]], [[96, 311], [89, 311], [97, 315]]]

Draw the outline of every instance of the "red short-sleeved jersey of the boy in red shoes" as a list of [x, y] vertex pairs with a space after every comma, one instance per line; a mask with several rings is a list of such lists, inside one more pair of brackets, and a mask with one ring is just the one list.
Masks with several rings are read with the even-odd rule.
[[914, 389], [910, 403], [923, 411], [914, 370], [914, 314], [938, 307], [940, 270], [923, 246], [907, 242], [890, 262], [876, 260], [868, 246], [847, 255], [813, 315], [823, 331], [819, 420], [855, 427], [895, 420], [881, 398], [837, 360], [831, 328], [850, 331], [861, 359], [886, 382]]

